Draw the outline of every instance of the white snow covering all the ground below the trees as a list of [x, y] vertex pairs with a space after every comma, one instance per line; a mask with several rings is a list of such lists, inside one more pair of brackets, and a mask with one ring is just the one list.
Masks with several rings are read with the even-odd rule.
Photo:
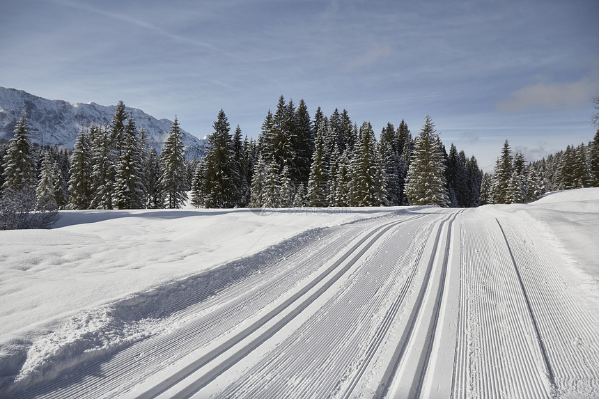
[[[380, 226], [398, 218], [403, 222], [381, 230]], [[371, 219], [371, 222], [360, 221], [343, 226], [339, 230], [330, 230], [327, 235], [322, 230], [327, 226], [340, 226], [361, 219]], [[378, 231], [380, 240], [375, 240]], [[441, 240], [438, 246], [433, 243], [436, 231], [439, 232], [437, 241]], [[492, 234], [484, 235], [484, 232]], [[501, 237], [501, 232], [506, 237], [503, 244], [495, 241]], [[327, 353], [335, 358], [327, 361], [336, 361], [336, 357], [343, 361], [350, 350], [357, 350], [359, 358], [350, 362], [349, 368], [336, 371], [339, 375], [336, 389], [355, 386], [355, 393], [371, 394], [380, 389], [380, 375], [384, 375], [390, 385], [400, 386], [400, 376], [412, 373], [413, 361], [410, 359], [419, 358], [419, 352], [412, 351], [423, 345], [420, 341], [433, 336], [440, 340], [434, 341], [430, 354], [435, 368], [428, 370], [422, 380], [423, 386], [418, 389], [430, 394], [435, 389], [444, 391], [451, 388], [452, 373], [449, 368], [454, 364], [453, 348], [458, 337], [462, 340], [458, 340], [458, 350], [463, 350], [464, 355], [456, 350], [456, 364], [470, 367], [472, 375], [460, 374], [456, 392], [474, 397], [476, 393], [482, 393], [477, 390], [488, 388], [487, 385], [479, 387], [476, 385], [478, 380], [474, 380], [478, 375], [482, 376], [481, 381], [488, 381], [484, 380], [486, 369], [476, 369], [477, 364], [485, 364], [485, 356], [494, 353], [485, 345], [495, 342], [496, 336], [499, 337], [497, 345], [509, 345], [511, 339], [516, 340], [514, 342], [518, 345], [534, 343], [536, 334], [547, 338], [550, 362], [554, 366], [559, 363], [554, 377], [556, 392], [566, 396], [597, 393], [599, 381], [596, 373], [589, 371], [589, 375], [581, 379], [574, 364], [577, 359], [571, 358], [583, 359], [580, 367], [584, 367], [585, 362], [592, 362], [599, 353], [596, 333], [589, 332], [599, 330], [598, 233], [599, 189], [561, 191], [531, 204], [485, 205], [463, 213], [432, 207], [63, 211], [59, 224], [52, 230], [0, 231], [0, 396], [3, 388], [12, 384], [15, 378], [17, 386], [52, 381], [79, 363], [114, 354], [121, 348], [134, 348], [132, 343], [146, 341], [150, 337], [166, 337], [169, 333], [176, 336], [176, 331], [189, 328], [190, 320], [201, 321], [210, 314], [210, 309], [226, 308], [229, 304], [233, 306], [235, 301], [241, 301], [242, 305], [235, 309], [246, 312], [247, 319], [240, 324], [234, 324], [235, 320], [232, 320], [231, 329], [212, 333], [217, 335], [204, 344], [208, 345], [206, 347], [216, 350], [227, 340], [235, 339], [244, 329], [249, 329], [252, 323], [265, 320], [262, 329], [235, 341], [228, 350], [232, 353], [231, 359], [234, 359], [238, 350], [243, 352], [249, 347], [247, 345], [254, 345], [247, 342], [260, 339], [256, 338], [260, 331], [270, 331], [274, 327], [269, 326], [281, 323], [283, 327], [277, 334], [272, 333], [274, 335], [269, 341], [258, 346], [251, 357], [233, 363], [231, 370], [217, 378], [206, 392], [225, 392], [235, 381], [246, 386], [244, 389], [266, 387], [260, 378], [270, 381], [272, 377], [274, 384], [277, 381], [274, 377], [280, 380], [283, 375], [293, 377], [288, 380], [289, 384], [296, 381], [294, 378], [304, 379], [297, 380], [293, 389], [308, 389], [313, 385], [306, 378], [320, 373], [315, 373], [320, 367], [316, 364], [320, 354], [315, 353], [311, 358], [311, 362], [316, 362], [315, 366], [305, 370], [274, 367], [282, 364], [283, 360], [292, 367], [293, 359], [286, 357], [285, 352], [277, 352], [281, 348], [295, 351], [297, 357], [309, 353], [302, 350], [304, 338], [309, 337], [309, 342], [332, 345]], [[333, 240], [337, 236], [345, 237], [346, 241]], [[398, 237], [402, 241], [397, 241]], [[443, 242], [448, 248], [445, 255]], [[520, 284], [529, 292], [526, 301], [518, 297], [509, 306], [524, 313], [502, 313], [507, 308], [501, 302], [490, 304], [483, 296], [468, 296], [465, 291], [471, 289], [470, 293], [497, 296], [494, 299], [497, 301], [510, 298], [511, 303], [510, 295], [513, 294], [510, 292], [514, 287], [520, 289], [520, 285], [513, 285], [516, 281], [514, 266], [506, 258], [506, 243], [517, 263], [524, 265], [520, 269]], [[352, 260], [352, 251], [362, 251], [359, 261]], [[496, 259], [490, 251], [504, 256]], [[294, 259], [292, 255], [286, 261], [290, 254], [299, 258]], [[311, 257], [317, 260], [313, 266], [309, 262]], [[275, 262], [281, 262], [280, 269], [269, 269], [270, 274], [260, 276], [263, 266], [258, 265]], [[334, 262], [339, 262], [339, 267], [345, 269], [335, 271], [335, 276], [322, 272], [327, 268], [336, 270], [337, 263]], [[393, 267], [395, 263], [398, 267]], [[428, 264], [432, 265], [432, 272], [427, 284], [428, 277], [421, 270]], [[240, 269], [240, 265], [247, 270]], [[489, 265], [495, 265], [491, 267], [492, 273], [495, 273], [492, 277], [485, 274]], [[447, 275], [442, 279], [444, 267]], [[463, 277], [463, 271], [460, 272], [461, 268], [468, 271], [466, 277]], [[212, 292], [220, 287], [221, 282], [233, 281], [229, 276], [239, 273], [249, 276], [250, 272], [258, 273], [252, 274], [249, 279], [255, 285], [232, 285], [230, 289], [221, 291], [224, 294], [212, 298]], [[281, 274], [280, 281], [287, 281], [295, 274], [303, 273], [304, 277], [291, 279], [295, 283], [288, 290], [281, 287], [280, 293], [277, 293], [279, 285], [272, 285], [274, 288], [268, 290], [260, 288], [265, 282], [279, 281], [277, 273]], [[314, 276], [322, 276], [322, 281]], [[360, 279], [364, 279], [365, 283], [361, 283]], [[505, 282], [502, 279], [506, 279]], [[310, 281], [318, 283], [311, 286]], [[538, 284], [538, 281], [543, 281], [543, 284]], [[430, 288], [426, 288], [426, 292], [419, 288], [428, 285]], [[264, 297], [263, 304], [252, 303], [251, 296], [246, 294], [254, 287], [259, 290], [255, 295], [271, 297]], [[366, 297], [360, 295], [360, 290], [366, 292], [366, 289], [372, 294]], [[546, 298], [547, 292], [559, 292], [559, 298], [545, 303], [543, 298]], [[309, 296], [308, 299], [304, 294]], [[405, 300], [396, 302], [398, 298]], [[423, 301], [423, 311], [414, 313], [412, 309], [414, 304], [419, 303], [419, 298]], [[438, 298], [442, 298], [442, 302]], [[294, 311], [293, 306], [296, 305], [290, 302], [291, 299], [297, 299], [303, 308], [300, 306], [298, 311]], [[187, 301], [193, 306], [188, 306]], [[287, 303], [293, 303], [293, 306], [287, 308]], [[558, 318], [557, 324], [552, 324], [553, 317], [538, 318], [538, 325], [531, 324], [522, 316], [527, 314], [527, 303], [529, 309], [530, 306], [535, 309], [535, 315], [553, 312]], [[388, 313], [384, 309], [392, 304], [396, 306], [393, 313], [396, 317], [387, 320]], [[485, 306], [492, 306], [497, 313], [495, 322], [499, 324], [493, 324], [495, 319], [488, 318], [488, 323], [479, 327], [477, 318], [480, 313], [465, 315], [465, 304], [469, 309], [480, 308], [481, 312], [489, 311]], [[368, 306], [371, 306], [371, 311], [358, 311]], [[573, 306], [577, 311], [571, 311]], [[281, 313], [275, 318], [268, 316], [279, 308]], [[438, 327], [433, 329], [429, 322], [433, 316], [429, 314], [437, 313], [437, 308], [442, 314]], [[337, 331], [334, 326], [327, 329], [327, 317], [331, 314], [336, 314], [336, 320], [356, 320], [352, 331]], [[410, 327], [406, 324], [410, 320], [408, 316], [417, 320], [414, 331], [428, 331], [428, 334], [418, 333], [414, 334], [416, 338], [410, 338], [406, 349], [408, 353], [400, 363], [399, 377], [396, 376], [399, 380], [393, 380], [393, 376], [389, 375], [393, 368], [387, 364], [396, 361], [394, 353], [397, 352], [400, 336], [407, 334], [409, 337], [411, 334], [406, 332]], [[511, 323], [512, 319], [516, 320], [515, 324], [503, 321]], [[563, 325], [559, 325], [559, 320]], [[378, 332], [377, 327], [382, 322], [387, 323], [384, 334]], [[579, 324], [584, 324], [584, 329], [580, 327], [581, 330], [573, 335], [577, 338], [570, 338], [568, 334], [571, 331], [568, 329]], [[479, 341], [480, 328], [484, 328], [487, 341]], [[327, 331], [327, 336], [322, 333], [315, 335], [313, 331]], [[510, 331], [512, 335], [509, 337], [516, 338], [507, 338], [505, 334]], [[348, 339], [343, 338], [344, 334], [350, 334], [356, 341], [349, 344]], [[378, 335], [374, 345], [382, 348], [381, 355], [367, 351], [370, 347], [368, 337], [375, 334], [382, 334]], [[339, 349], [331, 341], [334, 337], [349, 346]], [[571, 339], [578, 340], [575, 347], [568, 346]], [[150, 348], [155, 346], [148, 342], [146, 350], [151, 352]], [[197, 363], [204, 356], [202, 348], [169, 354], [173, 360], [162, 367], [162, 373], [166, 373], [164, 377], [178, 375], [184, 367], [182, 364]], [[509, 346], [504, 348], [501, 356], [506, 357], [508, 366], [513, 365], [532, 376], [535, 370], [542, 370], [543, 357], [538, 348], [530, 352], [527, 352], [528, 347], [525, 348], [527, 358]], [[274, 354], [269, 357], [271, 353]], [[361, 366], [359, 359], [371, 357], [371, 366]], [[280, 360], [273, 363], [275, 366], [268, 366], [269, 359]], [[203, 367], [195, 370], [193, 375], [201, 375], [202, 370], [213, 366], [221, 367], [218, 361], [221, 361], [220, 357], [203, 363]], [[223, 361], [222, 364], [228, 364], [226, 362], [231, 360]], [[250, 380], [239, 380], [247, 370], [265, 370], [260, 372], [265, 374], [252, 374]], [[274, 375], [267, 374], [273, 373], [273, 370], [276, 371]], [[322, 373], [330, 373], [328, 370], [323, 369]], [[355, 377], [358, 370], [364, 373], [363, 380], [358, 380], [362, 374]], [[473, 370], [478, 370], [476, 375]], [[419, 373], [419, 370], [414, 372]], [[520, 377], [511, 372], [502, 369], [506, 379], [495, 383], [507, 384], [506, 389], [513, 389], [509, 385], [511, 379], [515, 381]], [[161, 377], [146, 380], [148, 387], [157, 382], [156, 378]], [[194, 378], [187, 377], [190, 386], [196, 384]], [[554, 389], [549, 388], [551, 381], [543, 373], [534, 374], [534, 378], [540, 389], [538, 392]], [[336, 381], [334, 377], [329, 379]], [[182, 380], [187, 384], [185, 381]], [[300, 381], [303, 382], [300, 384]], [[406, 389], [414, 389], [409, 385]], [[176, 386], [171, 388], [173, 392], [178, 389]], [[518, 389], [523, 389], [518, 391], [523, 395], [534, 395], [536, 388], [531, 385]], [[342, 392], [336, 394], [342, 395]], [[105, 397], [110, 395], [107, 393]]]

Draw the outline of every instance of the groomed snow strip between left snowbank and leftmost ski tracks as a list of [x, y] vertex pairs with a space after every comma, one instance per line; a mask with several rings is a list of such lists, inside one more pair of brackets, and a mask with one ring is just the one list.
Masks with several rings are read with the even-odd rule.
[[[16, 394], [16, 398], [98, 398], [102, 395], [105, 397], [111, 397], [109, 394], [111, 389], [122, 389], [131, 380], [135, 380], [139, 377], [140, 372], [143, 373], [141, 365], [149, 366], [149, 363], [165, 363], [167, 361], [173, 361], [173, 352], [180, 352], [180, 356], [185, 355], [187, 352], [194, 349], [189, 347], [187, 341], [197, 340], [197, 331], [205, 331], [202, 335], [205, 335], [204, 341], [209, 341], [212, 338], [216, 338], [219, 331], [226, 331], [226, 327], [231, 327], [231, 323], [226, 324], [223, 319], [231, 318], [233, 315], [240, 313], [244, 306], [248, 303], [256, 304], [257, 298], [264, 297], [265, 293], [274, 294], [277, 292], [275, 288], [279, 287], [279, 290], [286, 290], [288, 288], [281, 288], [280, 285], [287, 280], [299, 281], [305, 278], [309, 273], [313, 272], [314, 269], [320, 267], [329, 258], [334, 256], [334, 252], [331, 253], [329, 249], [341, 248], [345, 245], [345, 240], [350, 240], [354, 237], [364, 226], [371, 226], [373, 224], [380, 224], [380, 221], [364, 221], [357, 226], [352, 224], [347, 225], [343, 230], [334, 231], [328, 238], [332, 240], [332, 244], [327, 244], [327, 240], [320, 242], [313, 242], [307, 247], [304, 247], [302, 251], [296, 253], [290, 259], [281, 260], [279, 257], [265, 258], [266, 263], [260, 269], [270, 270], [267, 274], [252, 274], [251, 276], [242, 276], [243, 278], [238, 281], [238, 284], [233, 285], [231, 288], [228, 287], [230, 283], [223, 281], [217, 282], [217, 285], [210, 285], [208, 292], [193, 292], [193, 297], [207, 297], [211, 292], [217, 292], [227, 288], [222, 294], [216, 297], [209, 298], [206, 302], [200, 302], [199, 306], [192, 306], [182, 312], [182, 317], [188, 315], [191, 312], [206, 312], [210, 308], [217, 306], [217, 310], [201, 318], [197, 322], [192, 322], [178, 330], [178, 334], [169, 334], [167, 336], [157, 336], [150, 338], [149, 340], [143, 341], [134, 345], [133, 347], [127, 348], [123, 352], [119, 352], [111, 358], [107, 367], [104, 364], [98, 365], [98, 363], [91, 363], [88, 366], [83, 366], [75, 370], [75, 375], [71, 377], [71, 385], [65, 386], [65, 381], [54, 380], [37, 389], [28, 389], [22, 394]], [[325, 236], [327, 237], [327, 236]], [[313, 247], [316, 244], [317, 251], [315, 252]], [[307, 252], [307, 253], [306, 253]], [[254, 257], [252, 257], [254, 258]], [[257, 262], [262, 261], [261, 256], [258, 256]], [[294, 260], [295, 259], [295, 260]], [[301, 262], [299, 266], [297, 262]], [[280, 263], [283, 265], [288, 264], [288, 267], [280, 267]], [[308, 265], [313, 267], [308, 267]], [[218, 272], [217, 272], [218, 273]], [[233, 272], [230, 276], [231, 279], [238, 279], [239, 272]], [[217, 276], [217, 278], [219, 278]], [[257, 286], [254, 287], [254, 285]], [[258, 290], [259, 288], [259, 290]], [[244, 295], [244, 296], [243, 296]], [[240, 299], [235, 302], [236, 299]], [[241, 300], [242, 299], [242, 300]], [[184, 302], [188, 302], [190, 299], [185, 298]], [[270, 299], [272, 300], [272, 298]], [[175, 298], [173, 302], [178, 302], [179, 299]], [[231, 304], [228, 306], [227, 304]], [[256, 305], [256, 308], [258, 308]], [[171, 305], [172, 306], [172, 305]], [[228, 307], [227, 307], [228, 306]], [[228, 309], [226, 312], [219, 311], [220, 308]], [[251, 312], [252, 309], [248, 309], [245, 313]], [[258, 309], [256, 309], [258, 310]], [[247, 316], [249, 317], [249, 316]], [[226, 324], [223, 326], [223, 324]], [[217, 327], [218, 326], [218, 327]], [[206, 334], [208, 333], [208, 334]], [[199, 343], [200, 345], [201, 343]], [[100, 368], [101, 367], [101, 368]], [[91, 387], [91, 388], [90, 388]]]

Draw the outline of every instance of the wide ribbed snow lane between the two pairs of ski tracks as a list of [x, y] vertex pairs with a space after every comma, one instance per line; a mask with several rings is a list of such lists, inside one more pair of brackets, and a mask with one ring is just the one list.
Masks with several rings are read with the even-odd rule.
[[[384, 336], [381, 325], [391, 319], [389, 308], [412, 286], [414, 273], [420, 269], [423, 243], [435, 229], [428, 223], [414, 224], [412, 230], [405, 226], [389, 235], [376, 253], [361, 260], [352, 275], [329, 293], [327, 302], [306, 316], [301, 327], [255, 366], [239, 371], [239, 380], [216, 397], [322, 398], [341, 395], [347, 389], [351, 395], [353, 376], [361, 373], [365, 363], [368, 366], [375, 347], [372, 343]], [[405, 239], [394, 239], [399, 233]]]

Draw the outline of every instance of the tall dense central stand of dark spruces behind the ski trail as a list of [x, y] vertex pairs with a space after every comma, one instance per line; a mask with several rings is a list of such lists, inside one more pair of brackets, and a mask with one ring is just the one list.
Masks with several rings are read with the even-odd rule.
[[258, 139], [242, 139], [219, 111], [207, 153], [194, 168], [192, 204], [205, 208], [439, 205], [480, 202], [476, 158], [449, 154], [427, 116], [412, 137], [405, 121], [388, 123], [376, 139], [370, 123], [348, 111], [313, 118], [306, 103], [279, 97]]

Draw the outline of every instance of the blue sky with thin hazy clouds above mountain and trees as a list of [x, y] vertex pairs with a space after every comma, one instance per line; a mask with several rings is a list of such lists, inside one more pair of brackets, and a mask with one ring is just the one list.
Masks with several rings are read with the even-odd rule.
[[592, 139], [599, 2], [3, 0], [0, 86], [258, 136], [280, 95], [380, 132], [427, 114], [492, 166]]

